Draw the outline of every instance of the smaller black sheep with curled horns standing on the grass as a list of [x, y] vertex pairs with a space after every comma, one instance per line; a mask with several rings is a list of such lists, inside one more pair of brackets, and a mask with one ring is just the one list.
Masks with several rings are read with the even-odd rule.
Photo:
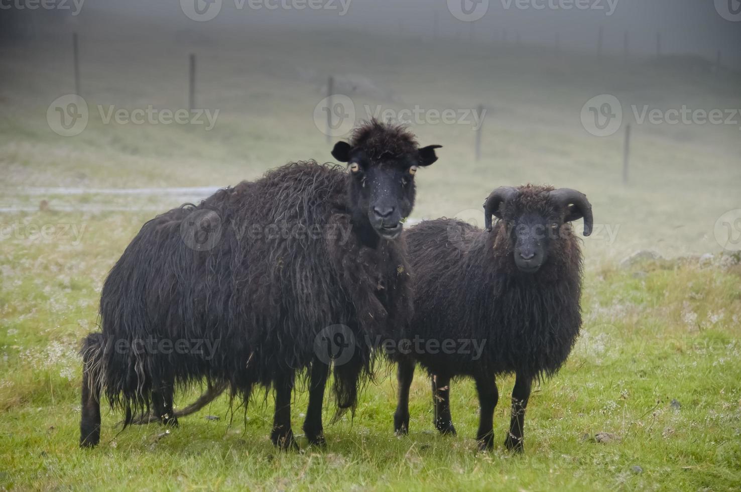
[[[495, 376], [515, 373], [505, 445], [522, 451], [532, 382], [559, 370], [582, 324], [582, 255], [568, 223], [583, 217], [589, 236], [592, 211], [576, 190], [533, 185], [494, 190], [484, 210], [486, 230], [436, 219], [404, 234], [415, 306], [407, 338], [416, 348], [398, 357], [394, 428], [408, 433], [409, 387], [419, 362], [432, 376], [434, 424], [443, 434], [455, 433], [451, 377], [473, 377], [481, 407], [476, 439], [480, 449], [491, 449], [499, 399]], [[499, 219], [494, 227], [492, 215]], [[458, 345], [439, 350], [443, 339]], [[430, 340], [435, 344], [419, 343]], [[483, 345], [479, 353], [471, 350], [475, 345]]]

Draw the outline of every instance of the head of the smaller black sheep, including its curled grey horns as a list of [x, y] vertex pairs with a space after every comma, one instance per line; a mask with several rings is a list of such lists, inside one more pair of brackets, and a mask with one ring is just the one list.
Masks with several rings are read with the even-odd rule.
[[491, 216], [508, 238], [514, 263], [524, 273], [535, 273], [550, 253], [572, 239], [569, 222], [584, 219], [584, 235], [592, 233], [592, 207], [583, 193], [570, 188], [499, 187], [484, 202], [485, 224]]

